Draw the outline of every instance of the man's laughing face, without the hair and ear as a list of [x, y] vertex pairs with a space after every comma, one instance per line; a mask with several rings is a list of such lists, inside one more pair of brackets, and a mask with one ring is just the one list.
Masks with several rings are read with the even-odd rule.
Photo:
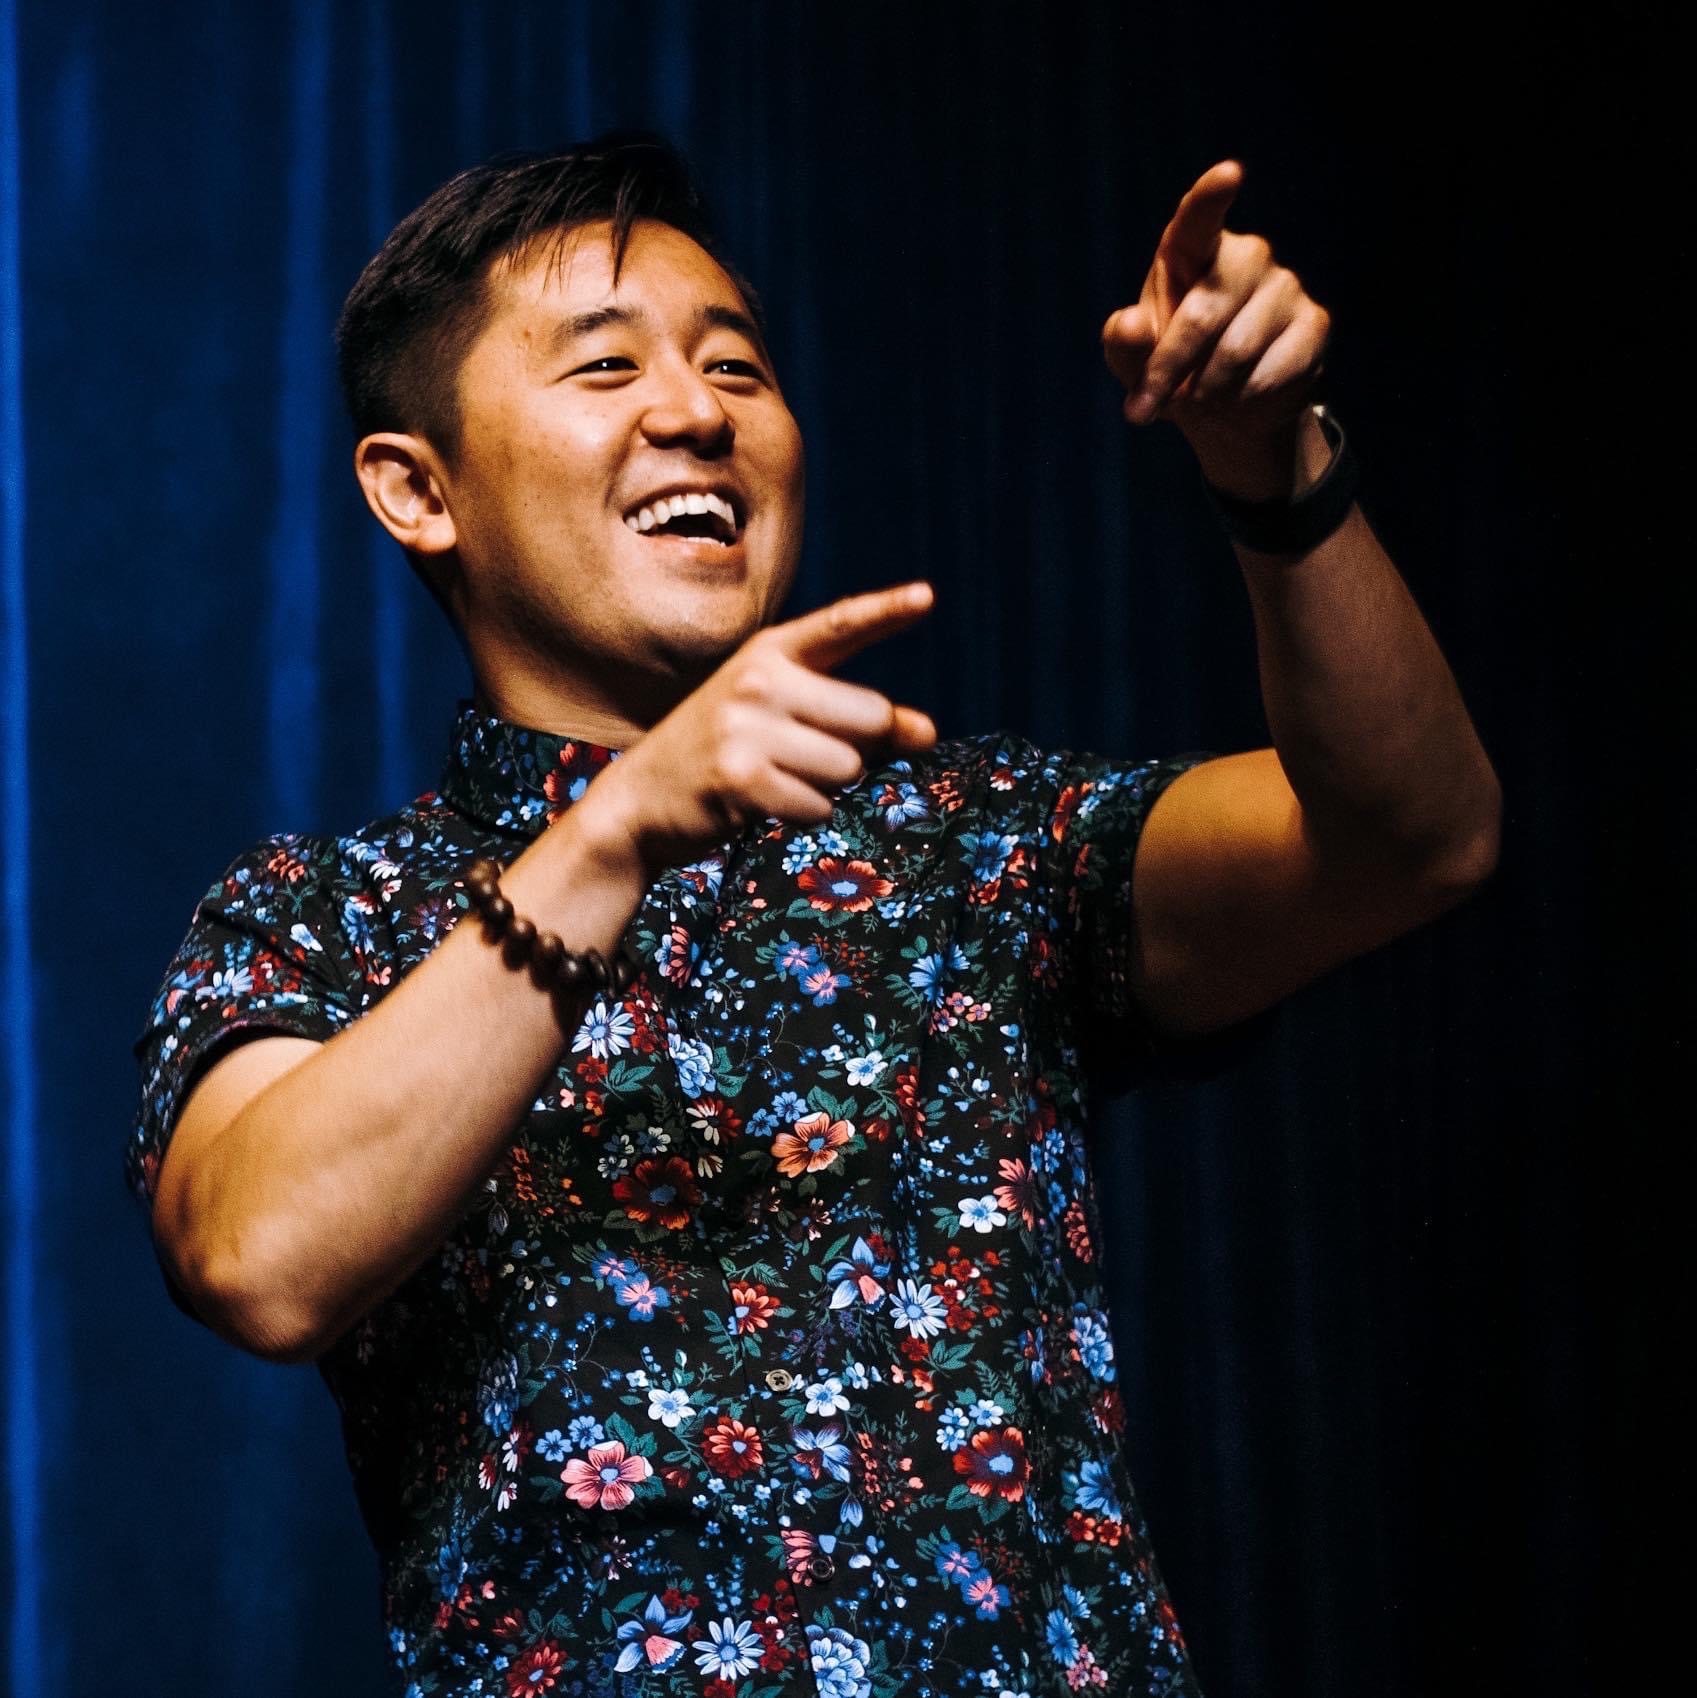
[[445, 491], [472, 657], [496, 696], [518, 667], [567, 705], [662, 706], [783, 603], [800, 431], [736, 285], [669, 224], [635, 224], [617, 284], [595, 222], [491, 289]]

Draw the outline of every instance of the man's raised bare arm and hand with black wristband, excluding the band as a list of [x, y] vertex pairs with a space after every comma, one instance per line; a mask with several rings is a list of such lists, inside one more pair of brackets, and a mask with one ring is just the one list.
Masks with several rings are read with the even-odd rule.
[[[1308, 397], [1330, 319], [1259, 236], [1223, 229], [1213, 166], [1104, 326], [1126, 418], [1170, 418], [1203, 475], [1301, 492], [1330, 448]], [[1456, 679], [1359, 508], [1303, 555], [1238, 548], [1271, 749], [1175, 779], [1133, 869], [1136, 995], [1201, 1032], [1442, 914], [1495, 866], [1502, 800]]]

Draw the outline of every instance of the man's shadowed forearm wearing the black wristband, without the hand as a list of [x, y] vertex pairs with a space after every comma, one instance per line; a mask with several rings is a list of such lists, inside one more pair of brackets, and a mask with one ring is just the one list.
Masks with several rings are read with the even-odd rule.
[[[1204, 475], [1266, 496], [1325, 467], [1318, 424]], [[1500, 796], [1456, 679], [1359, 508], [1306, 555], [1238, 548], [1274, 747], [1316, 849], [1468, 883], [1495, 859]]]

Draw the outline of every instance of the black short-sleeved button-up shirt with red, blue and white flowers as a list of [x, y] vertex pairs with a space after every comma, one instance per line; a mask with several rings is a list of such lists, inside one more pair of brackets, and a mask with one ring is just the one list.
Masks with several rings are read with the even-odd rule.
[[[438, 791], [236, 859], [138, 1043], [138, 1197], [217, 1051], [358, 1019], [610, 759], [464, 706]], [[1198, 1691], [1085, 1127], [1155, 1049], [1131, 857], [1199, 759], [944, 742], [647, 891], [642, 976], [319, 1362], [396, 1693]]]

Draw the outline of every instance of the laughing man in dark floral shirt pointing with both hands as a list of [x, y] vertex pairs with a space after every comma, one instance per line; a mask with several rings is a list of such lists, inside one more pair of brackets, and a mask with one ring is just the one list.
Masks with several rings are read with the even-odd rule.
[[438, 793], [200, 903], [131, 1173], [178, 1301], [330, 1382], [397, 1690], [1198, 1691], [1084, 1068], [1451, 907], [1498, 817], [1238, 180], [1104, 326], [1240, 538], [1276, 747], [1221, 759], [938, 742], [832, 678], [924, 584], [776, 621], [802, 443], [664, 148], [469, 171], [355, 285], [355, 467], [476, 700]]

